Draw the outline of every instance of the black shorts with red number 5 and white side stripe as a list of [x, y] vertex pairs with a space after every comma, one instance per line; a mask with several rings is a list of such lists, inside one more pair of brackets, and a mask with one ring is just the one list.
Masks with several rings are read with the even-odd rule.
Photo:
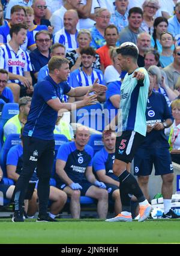
[[116, 137], [115, 158], [125, 163], [131, 163], [144, 139], [145, 137], [136, 131], [122, 132], [121, 136]]

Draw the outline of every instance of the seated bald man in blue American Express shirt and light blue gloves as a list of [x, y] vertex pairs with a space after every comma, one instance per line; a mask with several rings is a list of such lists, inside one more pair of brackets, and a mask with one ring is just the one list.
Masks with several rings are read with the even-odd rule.
[[98, 216], [104, 219], [108, 208], [108, 193], [105, 184], [96, 180], [92, 173], [93, 149], [87, 145], [89, 137], [88, 128], [79, 126], [74, 142], [65, 143], [59, 148], [56, 157], [57, 187], [71, 198], [73, 218], [80, 218], [80, 196], [89, 196], [97, 199]]

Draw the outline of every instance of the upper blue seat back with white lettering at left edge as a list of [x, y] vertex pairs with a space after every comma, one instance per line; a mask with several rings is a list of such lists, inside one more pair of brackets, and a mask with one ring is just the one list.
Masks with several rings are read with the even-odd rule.
[[18, 103], [6, 103], [2, 108], [2, 114], [0, 122], [4, 125], [8, 119], [19, 114], [19, 104]]

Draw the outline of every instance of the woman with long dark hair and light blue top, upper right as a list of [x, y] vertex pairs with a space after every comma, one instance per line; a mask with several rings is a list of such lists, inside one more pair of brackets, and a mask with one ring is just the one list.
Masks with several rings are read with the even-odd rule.
[[[154, 31], [151, 37], [151, 47], [156, 49], [159, 53], [162, 52], [162, 45], [160, 43], [160, 37], [163, 32], [167, 31], [168, 21], [164, 17], [157, 17], [154, 20]], [[174, 49], [174, 46], [171, 48]]]

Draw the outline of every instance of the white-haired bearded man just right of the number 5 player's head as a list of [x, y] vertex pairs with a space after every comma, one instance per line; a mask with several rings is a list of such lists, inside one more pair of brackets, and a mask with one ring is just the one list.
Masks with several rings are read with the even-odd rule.
[[137, 64], [139, 67], [145, 66], [145, 53], [149, 50], [151, 44], [151, 36], [142, 32], [137, 36], [137, 48], [139, 49], [139, 55]]

